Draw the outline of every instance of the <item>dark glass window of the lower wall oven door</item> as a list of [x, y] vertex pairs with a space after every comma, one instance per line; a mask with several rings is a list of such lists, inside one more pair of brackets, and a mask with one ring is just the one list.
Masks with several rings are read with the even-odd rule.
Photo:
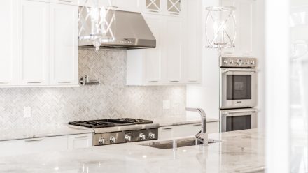
[[227, 116], [227, 131], [251, 129], [251, 114], [243, 116]]

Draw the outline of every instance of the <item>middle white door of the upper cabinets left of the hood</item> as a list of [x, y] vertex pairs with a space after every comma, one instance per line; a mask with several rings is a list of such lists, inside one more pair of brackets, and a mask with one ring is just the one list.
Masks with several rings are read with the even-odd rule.
[[49, 84], [49, 4], [18, 1], [18, 84]]

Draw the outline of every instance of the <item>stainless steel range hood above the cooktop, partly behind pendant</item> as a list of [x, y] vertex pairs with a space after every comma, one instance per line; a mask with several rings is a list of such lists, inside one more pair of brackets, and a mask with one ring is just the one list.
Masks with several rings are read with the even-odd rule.
[[[103, 43], [102, 48], [142, 49], [156, 47], [156, 39], [141, 13], [114, 10], [113, 14], [116, 16], [113, 24], [114, 39], [112, 42]], [[80, 10], [80, 15], [86, 17], [87, 13]], [[91, 22], [86, 21], [86, 25], [86, 27], [80, 29], [83, 24], [79, 24], [79, 29], [80, 31], [82, 30], [80, 36], [90, 35]], [[79, 40], [79, 47], [94, 46], [92, 40]]]

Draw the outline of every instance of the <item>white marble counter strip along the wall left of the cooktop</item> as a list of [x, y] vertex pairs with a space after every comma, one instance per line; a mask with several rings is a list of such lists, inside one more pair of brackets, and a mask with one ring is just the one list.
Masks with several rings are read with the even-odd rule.
[[9, 128], [9, 129], [0, 128], [0, 141], [22, 140], [34, 137], [77, 135], [77, 134], [85, 134], [93, 132], [94, 131], [91, 128], [82, 128], [69, 125], [37, 127], [37, 128]]

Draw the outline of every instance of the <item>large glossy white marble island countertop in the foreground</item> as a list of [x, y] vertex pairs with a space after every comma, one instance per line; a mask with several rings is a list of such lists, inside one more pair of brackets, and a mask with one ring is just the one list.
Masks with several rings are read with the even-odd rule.
[[221, 142], [176, 151], [130, 143], [13, 156], [0, 158], [0, 172], [264, 172], [264, 136], [256, 129], [210, 134]]

